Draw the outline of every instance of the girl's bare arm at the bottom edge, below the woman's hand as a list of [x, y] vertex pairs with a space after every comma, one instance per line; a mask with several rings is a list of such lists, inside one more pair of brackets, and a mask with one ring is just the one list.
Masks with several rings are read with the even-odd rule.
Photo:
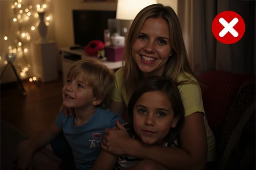
[[112, 170], [116, 164], [118, 156], [101, 150], [99, 157], [95, 161], [92, 170]]

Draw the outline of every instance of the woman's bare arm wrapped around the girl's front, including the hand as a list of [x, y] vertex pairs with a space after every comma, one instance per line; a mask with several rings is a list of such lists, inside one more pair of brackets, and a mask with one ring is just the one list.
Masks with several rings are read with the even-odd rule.
[[[121, 155], [150, 159], [168, 169], [204, 169], [207, 159], [207, 138], [202, 113], [196, 112], [185, 117], [180, 132], [181, 148], [146, 145], [131, 138], [124, 139], [124, 136], [120, 139], [117, 131], [120, 133], [121, 130], [109, 130], [106, 141], [103, 142], [107, 150], [113, 154], [118, 152]], [[124, 151], [121, 153], [120, 150]]]

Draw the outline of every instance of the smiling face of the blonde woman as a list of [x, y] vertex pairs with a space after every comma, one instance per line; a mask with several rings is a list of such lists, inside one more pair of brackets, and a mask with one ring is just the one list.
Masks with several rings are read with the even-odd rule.
[[132, 56], [143, 75], [161, 76], [171, 53], [169, 27], [163, 18], [148, 18], [132, 46]]

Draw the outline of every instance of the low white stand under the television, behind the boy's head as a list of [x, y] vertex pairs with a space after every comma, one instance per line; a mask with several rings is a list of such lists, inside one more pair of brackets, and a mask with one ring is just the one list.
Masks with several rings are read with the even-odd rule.
[[[63, 84], [67, 81], [68, 70], [73, 63], [78, 60], [88, 58], [91, 60], [99, 60], [98, 57], [89, 56], [85, 53], [84, 49], [70, 49], [70, 48], [60, 48], [61, 53], [61, 64], [62, 64], [62, 80]], [[101, 61], [101, 60], [99, 60]], [[116, 71], [117, 69], [122, 67], [122, 61], [111, 62], [111, 61], [101, 61], [105, 64], [109, 69]]]

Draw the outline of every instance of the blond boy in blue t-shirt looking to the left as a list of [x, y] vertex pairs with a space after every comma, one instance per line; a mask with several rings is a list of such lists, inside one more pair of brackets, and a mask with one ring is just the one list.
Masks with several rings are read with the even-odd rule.
[[62, 88], [63, 106], [74, 108], [74, 115], [58, 114], [49, 128], [29, 142], [18, 159], [18, 167], [29, 167], [35, 152], [43, 147], [53, 152], [49, 143], [63, 132], [72, 149], [76, 169], [91, 169], [100, 154], [104, 130], [114, 128], [117, 119], [123, 122], [119, 114], [106, 109], [114, 80], [113, 71], [99, 61], [74, 63]]

